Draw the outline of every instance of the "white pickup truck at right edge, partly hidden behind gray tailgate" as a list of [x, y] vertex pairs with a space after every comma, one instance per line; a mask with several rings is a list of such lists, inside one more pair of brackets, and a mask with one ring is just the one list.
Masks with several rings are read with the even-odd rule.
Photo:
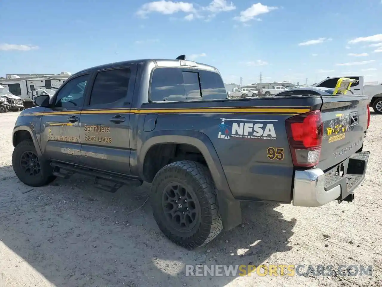
[[[331, 77], [322, 80], [315, 84], [316, 87], [335, 88], [337, 81], [342, 77]], [[363, 76], [345, 76], [345, 78], [351, 78], [358, 80], [358, 83], [354, 83], [350, 86], [350, 90], [354, 95], [368, 95], [369, 106], [374, 109], [377, 114], [382, 114], [382, 84], [379, 85], [364, 85]]]

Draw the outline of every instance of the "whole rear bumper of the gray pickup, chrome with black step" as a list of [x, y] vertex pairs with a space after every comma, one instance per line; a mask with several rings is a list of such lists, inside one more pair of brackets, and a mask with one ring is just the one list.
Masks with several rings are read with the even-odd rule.
[[[353, 199], [353, 192], [366, 174], [369, 152], [355, 153], [348, 159], [346, 174], [338, 176], [320, 168], [296, 170], [293, 185], [293, 205], [321, 206], [330, 201]], [[346, 166], [346, 165], [345, 165]], [[349, 200], [349, 201], [351, 201]]]

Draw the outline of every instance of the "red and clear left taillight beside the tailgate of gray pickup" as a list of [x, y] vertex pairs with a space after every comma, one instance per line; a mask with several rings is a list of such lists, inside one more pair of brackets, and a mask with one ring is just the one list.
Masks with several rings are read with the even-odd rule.
[[324, 132], [320, 111], [290, 117], [285, 121], [294, 166], [312, 167], [320, 159]]

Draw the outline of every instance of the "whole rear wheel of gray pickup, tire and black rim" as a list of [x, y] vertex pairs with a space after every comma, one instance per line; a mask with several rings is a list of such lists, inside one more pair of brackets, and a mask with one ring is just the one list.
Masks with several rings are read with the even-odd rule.
[[159, 229], [177, 245], [205, 245], [223, 229], [214, 181], [195, 161], [176, 161], [158, 171], [150, 201]]

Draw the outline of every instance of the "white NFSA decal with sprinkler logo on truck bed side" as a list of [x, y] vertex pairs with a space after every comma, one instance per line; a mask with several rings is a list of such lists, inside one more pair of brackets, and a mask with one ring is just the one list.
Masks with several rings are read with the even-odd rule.
[[[254, 120], [254, 119], [221, 119], [219, 125], [219, 139], [276, 139], [274, 124], [277, 120]], [[230, 125], [226, 123], [230, 121]]]

